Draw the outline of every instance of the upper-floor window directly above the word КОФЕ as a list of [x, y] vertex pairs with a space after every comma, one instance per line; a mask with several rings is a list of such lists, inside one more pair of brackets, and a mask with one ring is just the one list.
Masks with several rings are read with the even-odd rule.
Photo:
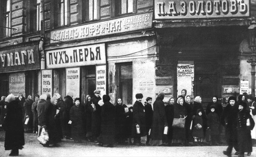
[[98, 20], [100, 14], [100, 0], [82, 0], [83, 21]]

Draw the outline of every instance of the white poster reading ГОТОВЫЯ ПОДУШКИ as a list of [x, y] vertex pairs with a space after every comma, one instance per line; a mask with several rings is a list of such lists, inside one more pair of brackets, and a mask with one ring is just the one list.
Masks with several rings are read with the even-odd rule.
[[72, 92], [73, 99], [80, 95], [80, 68], [66, 69], [66, 95]]

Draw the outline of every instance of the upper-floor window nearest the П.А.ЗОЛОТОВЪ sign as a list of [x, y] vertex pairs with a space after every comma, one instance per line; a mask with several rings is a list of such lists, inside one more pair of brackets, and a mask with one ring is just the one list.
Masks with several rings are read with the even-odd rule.
[[136, 5], [137, 0], [116, 0], [115, 1], [115, 13], [116, 15], [128, 14], [134, 12], [134, 5]]

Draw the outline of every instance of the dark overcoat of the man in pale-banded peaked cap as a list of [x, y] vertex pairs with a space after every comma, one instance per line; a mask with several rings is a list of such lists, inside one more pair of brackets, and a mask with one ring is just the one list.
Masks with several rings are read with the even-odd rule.
[[[101, 100], [101, 97], [94, 96], [90, 100], [90, 110], [92, 112], [92, 133], [94, 137], [99, 137], [99, 134], [101, 132], [101, 108], [102, 106], [99, 106], [98, 102]], [[93, 107], [91, 104], [94, 104], [96, 107], [96, 110], [93, 110]]]

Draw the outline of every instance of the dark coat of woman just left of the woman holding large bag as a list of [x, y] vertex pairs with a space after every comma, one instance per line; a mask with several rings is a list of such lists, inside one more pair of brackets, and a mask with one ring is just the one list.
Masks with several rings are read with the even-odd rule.
[[172, 122], [173, 122], [173, 116], [174, 116], [174, 105], [168, 104], [165, 106], [166, 111], [166, 121], [168, 124], [169, 132], [167, 134], [167, 137], [169, 140], [172, 140]]

